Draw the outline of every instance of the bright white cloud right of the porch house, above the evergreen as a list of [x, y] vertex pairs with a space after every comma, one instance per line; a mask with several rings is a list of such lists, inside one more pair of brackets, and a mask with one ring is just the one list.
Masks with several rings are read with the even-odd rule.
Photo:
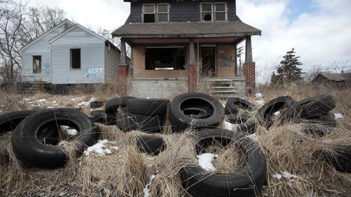
[[[289, 20], [290, 1], [237, 1], [237, 14], [245, 23], [262, 30], [253, 36], [253, 59], [261, 75], [269, 79], [281, 56], [294, 47], [303, 69], [315, 64], [351, 59], [351, 1], [314, 0], [314, 11]], [[242, 43], [241, 45], [244, 45]]]

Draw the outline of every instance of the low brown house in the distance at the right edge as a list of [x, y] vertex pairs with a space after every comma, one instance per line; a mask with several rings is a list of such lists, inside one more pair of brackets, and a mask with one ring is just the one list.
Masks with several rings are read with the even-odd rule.
[[351, 73], [319, 73], [311, 82], [325, 83], [337, 87], [350, 87]]

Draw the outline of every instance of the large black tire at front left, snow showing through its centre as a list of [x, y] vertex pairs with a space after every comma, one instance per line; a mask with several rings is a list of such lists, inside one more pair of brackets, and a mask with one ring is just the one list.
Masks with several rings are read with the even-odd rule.
[[44, 145], [37, 139], [39, 130], [53, 125], [67, 125], [79, 132], [77, 154], [94, 144], [97, 137], [94, 123], [85, 114], [72, 109], [57, 108], [38, 111], [27, 117], [14, 130], [12, 149], [22, 163], [39, 168], [57, 168], [67, 161], [63, 147]]

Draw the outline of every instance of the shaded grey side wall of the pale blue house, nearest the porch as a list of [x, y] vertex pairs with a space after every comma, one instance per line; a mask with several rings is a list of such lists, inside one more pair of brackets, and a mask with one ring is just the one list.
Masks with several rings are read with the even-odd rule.
[[120, 54], [116, 49], [105, 46], [105, 82], [109, 83], [112, 80], [117, 81], [118, 63], [120, 62]]

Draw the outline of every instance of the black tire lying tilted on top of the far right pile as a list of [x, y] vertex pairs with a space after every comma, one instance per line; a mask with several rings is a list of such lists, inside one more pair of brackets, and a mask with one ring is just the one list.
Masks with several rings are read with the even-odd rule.
[[298, 103], [301, 106], [302, 118], [311, 118], [320, 115], [326, 116], [336, 106], [335, 100], [329, 94], [314, 96]]

